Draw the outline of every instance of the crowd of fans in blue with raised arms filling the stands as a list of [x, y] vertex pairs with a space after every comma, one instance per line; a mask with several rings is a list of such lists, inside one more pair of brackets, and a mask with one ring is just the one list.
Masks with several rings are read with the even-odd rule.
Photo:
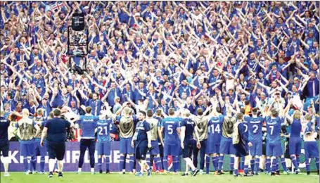
[[[77, 11], [89, 29], [84, 75], [68, 70]], [[319, 113], [318, 1], [1, 1], [0, 29], [6, 116], [81, 106], [196, 114], [212, 96], [222, 113], [225, 103], [250, 114], [292, 98]]]

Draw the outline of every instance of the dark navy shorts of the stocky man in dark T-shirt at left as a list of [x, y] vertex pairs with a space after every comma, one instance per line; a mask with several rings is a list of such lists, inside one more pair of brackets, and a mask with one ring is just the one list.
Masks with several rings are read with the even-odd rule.
[[63, 160], [65, 157], [65, 141], [47, 141], [49, 159]]

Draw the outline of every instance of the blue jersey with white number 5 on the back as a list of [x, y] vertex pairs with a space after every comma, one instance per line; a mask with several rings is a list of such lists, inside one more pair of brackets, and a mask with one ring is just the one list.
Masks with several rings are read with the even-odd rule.
[[162, 126], [165, 130], [165, 144], [177, 144], [179, 143], [179, 136], [177, 129], [179, 128], [180, 118], [167, 117], [162, 120]]

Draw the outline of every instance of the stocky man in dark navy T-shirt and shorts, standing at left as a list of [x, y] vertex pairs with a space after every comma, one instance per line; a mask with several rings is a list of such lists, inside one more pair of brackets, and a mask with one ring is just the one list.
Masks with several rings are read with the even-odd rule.
[[63, 158], [65, 156], [65, 139], [67, 137], [67, 128], [74, 127], [73, 124], [67, 120], [61, 119], [60, 109], [55, 109], [53, 111], [54, 118], [48, 120], [44, 125], [44, 130], [41, 135], [41, 146], [44, 146], [44, 138], [46, 137], [46, 148], [49, 154], [49, 176], [53, 177], [53, 169], [56, 164], [56, 158], [58, 160], [58, 177], [63, 177]]

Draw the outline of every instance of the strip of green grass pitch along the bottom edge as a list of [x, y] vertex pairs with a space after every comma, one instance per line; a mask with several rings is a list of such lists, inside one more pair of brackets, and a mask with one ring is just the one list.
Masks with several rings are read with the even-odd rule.
[[229, 183], [229, 182], [245, 182], [245, 183], [294, 183], [294, 182], [319, 182], [319, 175], [312, 173], [311, 175], [306, 175], [301, 173], [299, 175], [281, 175], [279, 177], [271, 177], [270, 175], [260, 174], [254, 177], [233, 177], [232, 175], [197, 175], [197, 177], [181, 177], [181, 175], [151, 175], [151, 177], [135, 177], [134, 175], [119, 175], [118, 173], [113, 174], [96, 174], [91, 175], [90, 173], [82, 173], [77, 175], [75, 172], [65, 172], [63, 178], [58, 178], [55, 175], [53, 178], [48, 178], [47, 175], [23, 175], [23, 172], [11, 172], [10, 177], [4, 177], [3, 173], [0, 175], [0, 182], [17, 182], [17, 183], [35, 183], [35, 182], [89, 182], [89, 183], [102, 183], [102, 182], [193, 182], [193, 183], [209, 183], [209, 182], [219, 182], [219, 183]]

